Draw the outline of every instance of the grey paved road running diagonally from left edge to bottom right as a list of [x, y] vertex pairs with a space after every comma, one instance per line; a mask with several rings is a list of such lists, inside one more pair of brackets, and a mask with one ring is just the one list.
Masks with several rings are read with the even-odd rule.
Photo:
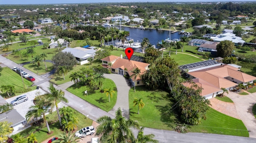
[[[0, 61], [4, 65], [9, 68], [14, 66], [18, 67], [18, 64], [2, 57], [0, 55]], [[48, 87], [50, 82], [45, 81], [45, 78], [42, 76], [38, 76], [33, 72], [29, 71], [28, 69], [22, 68], [24, 71], [28, 72], [28, 74], [34, 76], [36, 78], [36, 83], [40, 83], [39, 86], [48, 91]], [[41, 81], [43, 82], [41, 83]], [[60, 88], [59, 86], [55, 86], [56, 88]], [[117, 86], [118, 87], [118, 86]], [[60, 88], [62, 89], [62, 88]], [[88, 116], [88, 118], [96, 121], [101, 116], [110, 116], [113, 118], [112, 114], [109, 114], [88, 102], [82, 100], [81, 98], [71, 94], [65, 89], [62, 89], [65, 92], [65, 97], [68, 99], [69, 103], [68, 106], [76, 109], [81, 114]], [[119, 89], [118, 89], [119, 90]], [[160, 141], [160, 143], [255, 143], [255, 138], [248, 138], [248, 137], [236, 137], [236, 136], [229, 136], [229, 135], [217, 135], [217, 134], [206, 134], [206, 133], [186, 133], [186, 134], [179, 134], [175, 131], [166, 131], [160, 129], [150, 129], [146, 128], [144, 131], [145, 134], [153, 133], [156, 135], [156, 139]]]

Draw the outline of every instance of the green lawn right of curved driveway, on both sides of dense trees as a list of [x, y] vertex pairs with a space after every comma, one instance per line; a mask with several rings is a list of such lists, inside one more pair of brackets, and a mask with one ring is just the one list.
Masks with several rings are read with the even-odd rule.
[[[168, 93], [164, 91], [150, 91], [144, 86], [138, 86], [136, 92], [129, 92], [130, 119], [136, 120], [144, 127], [172, 130], [171, 126], [180, 123]], [[144, 108], [137, 114], [138, 107], [133, 107], [134, 97], [142, 98]], [[212, 108], [206, 113], [206, 120], [199, 125], [191, 126], [190, 132], [216, 133], [248, 137], [249, 133], [241, 120], [226, 116]]]

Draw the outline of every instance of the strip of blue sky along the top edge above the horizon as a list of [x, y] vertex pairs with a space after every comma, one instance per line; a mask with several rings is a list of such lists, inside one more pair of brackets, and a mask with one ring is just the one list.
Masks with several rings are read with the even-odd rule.
[[[65, 3], [87, 3], [87, 2], [177, 2], [179, 0], [0, 0], [0, 4], [65, 4]], [[180, 2], [206, 2], [204, 0], [180, 0]], [[230, 0], [207, 0], [223, 2]], [[241, 2], [241, 0], [232, 0]], [[255, 0], [246, 0], [255, 1]]]

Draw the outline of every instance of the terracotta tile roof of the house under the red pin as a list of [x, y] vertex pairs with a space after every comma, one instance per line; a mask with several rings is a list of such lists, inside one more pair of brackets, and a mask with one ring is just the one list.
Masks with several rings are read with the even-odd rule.
[[[105, 58], [104, 58], [105, 59]], [[103, 59], [101, 59], [103, 60]], [[104, 60], [105, 61], [105, 60]], [[112, 65], [112, 69], [119, 69], [121, 68], [122, 70], [124, 70], [125, 68], [127, 69], [127, 72], [129, 74], [129, 76], [132, 76], [132, 70], [135, 68], [139, 68], [141, 74], [146, 71], [146, 67], [148, 67], [150, 64], [148, 63], [142, 63], [142, 62], [137, 62], [137, 61], [132, 61], [132, 60], [128, 60], [128, 59], [121, 59], [118, 58], [115, 63]], [[134, 80], [134, 78], [132, 78], [132, 80]], [[137, 77], [137, 80], [140, 80], [140, 76]]]

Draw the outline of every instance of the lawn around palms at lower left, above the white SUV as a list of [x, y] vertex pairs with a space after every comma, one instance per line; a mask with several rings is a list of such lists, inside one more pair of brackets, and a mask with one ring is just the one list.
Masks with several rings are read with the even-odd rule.
[[[70, 107], [68, 107], [68, 108], [70, 108]], [[72, 110], [74, 110], [74, 109], [72, 109]], [[77, 129], [81, 129], [83, 127], [87, 127], [87, 126], [92, 125], [92, 120], [87, 119], [86, 116], [82, 115], [81, 113], [76, 112], [75, 116], [79, 119], [79, 122], [77, 124], [77, 126], [78, 126]], [[60, 123], [58, 121], [58, 115], [57, 115], [56, 111], [53, 112], [52, 114], [46, 115], [46, 118], [47, 118], [47, 121], [48, 121], [49, 124], [52, 123], [50, 125], [50, 130], [53, 131], [53, 133], [48, 135], [47, 134], [48, 130], [47, 130], [46, 127], [40, 129], [39, 131], [34, 133], [34, 135], [36, 135], [36, 138], [38, 139], [38, 143], [41, 143], [42, 141], [48, 139], [49, 137], [56, 136], [61, 132]], [[24, 131], [21, 131], [20, 134], [21, 135], [28, 134], [29, 131], [31, 131], [32, 129], [38, 129], [38, 127], [39, 126], [29, 127], [28, 129], [25, 129]], [[43, 127], [43, 125], [41, 125], [41, 127]]]

